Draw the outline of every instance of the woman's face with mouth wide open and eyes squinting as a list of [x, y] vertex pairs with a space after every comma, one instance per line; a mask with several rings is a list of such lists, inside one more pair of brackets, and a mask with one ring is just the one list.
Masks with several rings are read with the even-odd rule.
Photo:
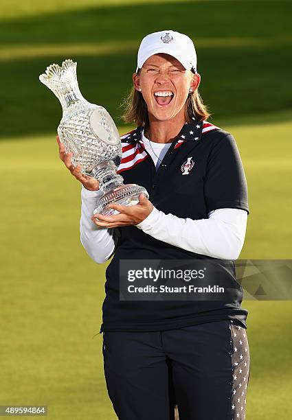
[[133, 82], [135, 89], [142, 89], [150, 120], [169, 121], [184, 117], [189, 90], [199, 86], [200, 75], [186, 70], [175, 57], [155, 54], [133, 74]]

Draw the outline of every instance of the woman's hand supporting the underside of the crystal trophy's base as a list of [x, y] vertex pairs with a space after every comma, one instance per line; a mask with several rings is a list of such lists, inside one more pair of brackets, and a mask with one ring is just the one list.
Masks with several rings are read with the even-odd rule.
[[153, 204], [144, 196], [144, 194], [140, 194], [137, 205], [122, 206], [113, 203], [109, 205], [109, 208], [120, 211], [120, 214], [102, 215], [96, 213], [92, 216], [91, 220], [93, 220], [97, 226], [106, 228], [139, 224], [151, 213]]

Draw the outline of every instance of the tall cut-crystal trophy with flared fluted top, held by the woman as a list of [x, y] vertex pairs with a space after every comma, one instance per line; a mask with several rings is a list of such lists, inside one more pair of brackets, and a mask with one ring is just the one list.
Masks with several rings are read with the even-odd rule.
[[103, 194], [93, 213], [116, 214], [118, 211], [109, 209], [109, 203], [135, 205], [139, 194], [149, 196], [144, 187], [124, 185], [122, 176], [117, 174], [122, 159], [117, 127], [103, 106], [91, 104], [82, 97], [76, 67], [77, 63], [72, 60], [63, 61], [61, 67], [50, 65], [39, 80], [54, 92], [62, 105], [58, 136], [65, 144], [65, 151], [72, 153], [71, 162], [74, 166], [80, 165], [83, 174], [99, 180]]

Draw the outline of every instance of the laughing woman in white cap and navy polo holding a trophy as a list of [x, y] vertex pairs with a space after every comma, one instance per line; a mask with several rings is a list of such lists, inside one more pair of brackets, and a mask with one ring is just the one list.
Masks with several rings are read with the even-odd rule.
[[[102, 306], [104, 373], [122, 420], [244, 419], [249, 379], [247, 310], [234, 263], [245, 238], [247, 185], [232, 135], [205, 121], [192, 40], [173, 31], [146, 36], [124, 115], [118, 172], [149, 192], [117, 214], [94, 215], [98, 180], [60, 158], [82, 183], [81, 242], [106, 269]], [[119, 263], [135, 259], [227, 261], [230, 301], [120, 300]], [[229, 265], [228, 265], [229, 264]], [[218, 270], [220, 264], [218, 264]]]

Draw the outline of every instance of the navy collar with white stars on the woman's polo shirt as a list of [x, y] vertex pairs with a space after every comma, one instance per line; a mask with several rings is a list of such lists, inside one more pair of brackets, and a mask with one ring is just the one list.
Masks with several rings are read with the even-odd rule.
[[[192, 117], [193, 121], [191, 123], [186, 123], [181, 128], [181, 132], [177, 136], [176, 141], [178, 140], [185, 140], [185, 141], [200, 141], [202, 137], [202, 129], [203, 129], [203, 121], [196, 121], [194, 117]], [[135, 130], [128, 133], [128, 136], [123, 139], [126, 143], [131, 143], [133, 141], [141, 141], [142, 140], [142, 131], [144, 130], [144, 126], [139, 126], [135, 128]]]

